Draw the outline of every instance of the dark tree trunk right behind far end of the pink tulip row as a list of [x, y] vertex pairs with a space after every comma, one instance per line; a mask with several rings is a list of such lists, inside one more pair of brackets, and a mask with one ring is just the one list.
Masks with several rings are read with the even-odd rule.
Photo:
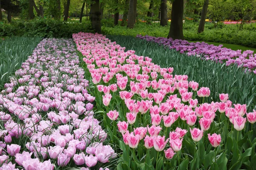
[[93, 4], [91, 4], [91, 20], [92, 20], [92, 28], [95, 32], [101, 34], [101, 12], [99, 8], [99, 0], [93, 0]]

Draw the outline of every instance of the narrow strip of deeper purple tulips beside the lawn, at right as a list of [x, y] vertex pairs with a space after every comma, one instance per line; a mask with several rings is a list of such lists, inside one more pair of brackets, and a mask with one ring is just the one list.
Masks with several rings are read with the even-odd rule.
[[204, 59], [216, 62], [226, 62], [226, 65], [237, 64], [253, 71], [256, 74], [256, 54], [247, 50], [241, 53], [241, 50], [233, 51], [229, 48], [222, 48], [222, 45], [209, 45], [205, 42], [188, 42], [186, 40], [172, 40], [172, 38], [151, 37], [148, 35], [137, 35], [140, 39], [153, 41], [169, 49], [175, 49], [180, 53], [186, 53], [188, 56], [202, 56]]

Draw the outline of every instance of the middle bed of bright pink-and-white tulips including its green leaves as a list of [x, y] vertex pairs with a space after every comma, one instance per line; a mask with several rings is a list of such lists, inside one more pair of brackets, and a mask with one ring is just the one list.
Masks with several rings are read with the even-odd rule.
[[117, 169], [255, 167], [250, 125], [256, 111], [246, 113], [246, 105], [233, 105], [228, 94], [205, 103], [209, 88], [125, 52], [101, 34], [78, 33], [73, 39], [95, 84], [97, 108], [105, 111], [111, 143], [122, 153]]

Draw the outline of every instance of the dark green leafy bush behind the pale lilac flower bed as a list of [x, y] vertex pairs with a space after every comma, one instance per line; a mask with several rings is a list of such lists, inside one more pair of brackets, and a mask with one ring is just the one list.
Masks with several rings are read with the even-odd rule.
[[35, 19], [31, 21], [13, 20], [12, 23], [0, 24], [0, 36], [40, 36], [40, 37], [67, 37], [73, 33], [90, 31], [90, 23], [77, 21], [63, 22], [52, 19]]

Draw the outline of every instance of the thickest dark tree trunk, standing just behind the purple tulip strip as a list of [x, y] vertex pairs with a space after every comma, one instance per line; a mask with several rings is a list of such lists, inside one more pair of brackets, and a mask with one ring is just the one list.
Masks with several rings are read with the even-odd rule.
[[172, 3], [171, 26], [168, 38], [184, 40], [183, 37], [183, 0]]

